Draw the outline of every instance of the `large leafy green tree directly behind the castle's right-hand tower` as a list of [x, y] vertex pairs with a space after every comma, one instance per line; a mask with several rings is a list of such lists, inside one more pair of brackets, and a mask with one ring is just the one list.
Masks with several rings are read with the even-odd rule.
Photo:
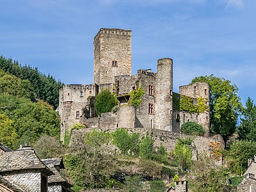
[[235, 84], [222, 77], [200, 76], [191, 83], [207, 82], [210, 86], [210, 127], [221, 136], [230, 136], [235, 132], [237, 117], [243, 108]]

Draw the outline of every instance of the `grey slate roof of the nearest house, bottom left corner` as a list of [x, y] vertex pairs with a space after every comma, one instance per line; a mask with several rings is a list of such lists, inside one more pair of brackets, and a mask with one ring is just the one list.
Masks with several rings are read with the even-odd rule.
[[40, 161], [34, 150], [17, 150], [0, 153], [0, 172], [30, 169], [40, 169], [46, 175], [53, 174], [53, 172]]

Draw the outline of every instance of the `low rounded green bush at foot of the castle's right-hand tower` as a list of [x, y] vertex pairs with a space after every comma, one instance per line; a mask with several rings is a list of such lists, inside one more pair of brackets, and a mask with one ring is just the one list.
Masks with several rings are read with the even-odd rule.
[[182, 124], [182, 130], [185, 134], [196, 134], [196, 135], [203, 135], [205, 134], [205, 130], [203, 126], [197, 124], [196, 122], [185, 122]]

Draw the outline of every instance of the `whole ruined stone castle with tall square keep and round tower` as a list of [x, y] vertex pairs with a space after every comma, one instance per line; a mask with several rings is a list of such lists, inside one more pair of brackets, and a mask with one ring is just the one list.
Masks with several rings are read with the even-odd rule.
[[[128, 93], [141, 87], [144, 90], [139, 108], [126, 106]], [[103, 113], [99, 118], [94, 108], [96, 95], [103, 89], [115, 92], [119, 108]], [[94, 37], [94, 83], [65, 84], [60, 89], [59, 111], [61, 139], [73, 124], [81, 122], [87, 127], [99, 128], [147, 128], [180, 132], [184, 122], [203, 125], [209, 132], [209, 112], [189, 113], [175, 107], [174, 97], [185, 95], [209, 100], [209, 84], [194, 83], [180, 86], [180, 93], [173, 93], [173, 60], [157, 61], [157, 72], [139, 69], [132, 75], [132, 31], [100, 29]], [[205, 102], [209, 108], [209, 102]]]

